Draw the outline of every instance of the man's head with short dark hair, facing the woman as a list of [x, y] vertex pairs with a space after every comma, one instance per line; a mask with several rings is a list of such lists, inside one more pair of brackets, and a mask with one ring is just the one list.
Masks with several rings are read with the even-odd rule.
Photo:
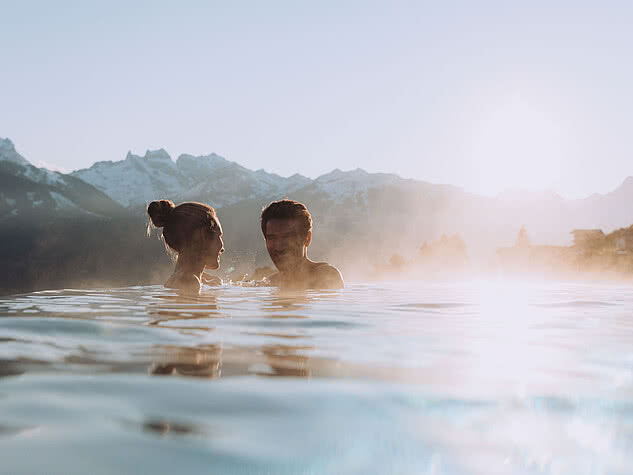
[[261, 216], [266, 249], [279, 270], [293, 267], [305, 257], [312, 239], [312, 217], [304, 204], [273, 201]]

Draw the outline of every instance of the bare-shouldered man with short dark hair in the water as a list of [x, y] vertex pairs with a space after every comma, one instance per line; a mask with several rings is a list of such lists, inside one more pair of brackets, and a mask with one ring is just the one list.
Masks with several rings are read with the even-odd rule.
[[270, 203], [261, 216], [266, 249], [277, 267], [273, 285], [285, 289], [342, 289], [341, 273], [327, 262], [308, 259], [312, 217], [304, 204], [293, 200]]

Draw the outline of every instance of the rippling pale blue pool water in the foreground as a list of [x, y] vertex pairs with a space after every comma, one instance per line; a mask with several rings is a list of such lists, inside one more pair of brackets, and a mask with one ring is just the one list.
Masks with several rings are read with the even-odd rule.
[[0, 473], [633, 473], [633, 286], [0, 298]]

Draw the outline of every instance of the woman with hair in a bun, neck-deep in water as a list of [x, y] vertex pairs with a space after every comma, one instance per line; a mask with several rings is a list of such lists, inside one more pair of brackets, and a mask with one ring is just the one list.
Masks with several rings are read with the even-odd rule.
[[165, 287], [199, 293], [204, 268], [220, 267], [220, 254], [224, 252], [222, 226], [215, 210], [203, 203], [174, 206], [169, 200], [160, 200], [149, 204], [147, 214], [154, 226], [163, 228], [165, 244], [178, 255]]

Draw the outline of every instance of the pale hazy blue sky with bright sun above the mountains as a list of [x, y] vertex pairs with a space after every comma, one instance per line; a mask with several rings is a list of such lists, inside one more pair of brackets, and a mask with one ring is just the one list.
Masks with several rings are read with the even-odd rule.
[[584, 196], [633, 175], [632, 25], [630, 1], [0, 0], [0, 137], [65, 170], [162, 147]]

